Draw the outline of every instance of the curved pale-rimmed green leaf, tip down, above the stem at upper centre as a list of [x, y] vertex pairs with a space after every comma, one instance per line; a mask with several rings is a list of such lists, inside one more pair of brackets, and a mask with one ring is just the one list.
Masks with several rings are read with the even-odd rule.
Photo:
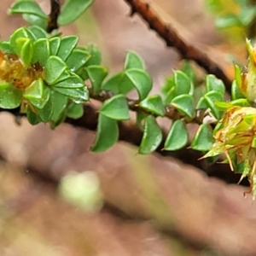
[[125, 75], [131, 80], [132, 85], [137, 90], [140, 101], [143, 101], [152, 89], [152, 79], [148, 73], [141, 69], [131, 68], [125, 70]]

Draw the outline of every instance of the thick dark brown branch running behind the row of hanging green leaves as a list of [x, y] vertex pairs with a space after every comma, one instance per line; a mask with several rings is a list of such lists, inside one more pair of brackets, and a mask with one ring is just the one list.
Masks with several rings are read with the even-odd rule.
[[[26, 114], [20, 113], [20, 108], [15, 109], [3, 109], [0, 108], [1, 112], [8, 112], [15, 116], [15, 120], [20, 124], [20, 118], [26, 117]], [[84, 104], [84, 115], [79, 119], [69, 119], [65, 120], [65, 123], [73, 125], [75, 127], [81, 127], [90, 131], [96, 131], [97, 120], [98, 120], [98, 109], [96, 109], [91, 103]], [[137, 125], [132, 122], [119, 122], [119, 141], [124, 141], [135, 146], [139, 146], [143, 137], [143, 131], [141, 131]], [[156, 149], [156, 153], [162, 156], [168, 156], [181, 160], [185, 164], [189, 164], [200, 168], [204, 172], [207, 172], [209, 176], [218, 177], [224, 180], [227, 183], [238, 183], [240, 180], [240, 175], [230, 172], [229, 165], [220, 165], [220, 164], [207, 164], [207, 160], [198, 160], [202, 153], [189, 149], [182, 148], [180, 150], [170, 152], [164, 151], [164, 142], [166, 140], [166, 132], [163, 131], [163, 140], [160, 143], [159, 148]], [[47, 179], [47, 177], [44, 177]], [[242, 180], [241, 185], [247, 185], [247, 180]]]

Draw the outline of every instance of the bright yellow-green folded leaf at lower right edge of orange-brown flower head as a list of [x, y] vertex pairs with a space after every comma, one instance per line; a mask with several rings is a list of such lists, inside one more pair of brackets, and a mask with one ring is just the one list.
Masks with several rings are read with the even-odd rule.
[[38, 109], [43, 109], [49, 101], [49, 88], [44, 85], [43, 79], [38, 79], [28, 86], [23, 94], [32, 105]]

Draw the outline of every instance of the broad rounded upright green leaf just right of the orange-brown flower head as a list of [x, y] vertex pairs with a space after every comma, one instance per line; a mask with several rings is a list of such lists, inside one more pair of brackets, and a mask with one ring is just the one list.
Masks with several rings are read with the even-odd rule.
[[60, 80], [61, 74], [67, 70], [67, 65], [57, 56], [49, 56], [44, 67], [44, 77], [47, 84], [55, 84]]

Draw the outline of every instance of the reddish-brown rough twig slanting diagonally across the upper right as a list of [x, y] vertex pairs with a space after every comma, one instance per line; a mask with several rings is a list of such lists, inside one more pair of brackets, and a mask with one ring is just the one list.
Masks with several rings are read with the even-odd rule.
[[143, 3], [141, 0], [124, 0], [131, 6], [131, 15], [137, 13], [143, 20], [148, 23], [149, 28], [154, 30], [160, 38], [166, 41], [166, 45], [177, 49], [183, 59], [195, 61], [200, 67], [203, 67], [207, 73], [214, 74], [218, 79], [223, 80], [230, 92], [231, 81], [226, 76], [224, 71], [218, 67], [216, 63], [211, 61], [207, 55], [201, 50], [196, 49], [193, 45], [189, 45], [175, 32], [172, 26], [167, 26], [160, 18], [154, 14], [154, 11], [149, 8], [148, 3]]

